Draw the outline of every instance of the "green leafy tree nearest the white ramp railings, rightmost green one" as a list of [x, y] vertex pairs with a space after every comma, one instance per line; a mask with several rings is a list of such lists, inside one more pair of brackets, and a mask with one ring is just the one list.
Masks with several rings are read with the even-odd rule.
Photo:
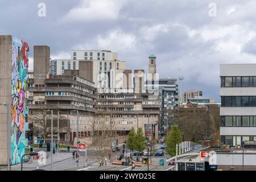
[[179, 128], [176, 125], [172, 125], [171, 131], [167, 135], [166, 139], [166, 152], [170, 154], [171, 156], [176, 155], [176, 144], [179, 144], [182, 142], [182, 135], [179, 130]]

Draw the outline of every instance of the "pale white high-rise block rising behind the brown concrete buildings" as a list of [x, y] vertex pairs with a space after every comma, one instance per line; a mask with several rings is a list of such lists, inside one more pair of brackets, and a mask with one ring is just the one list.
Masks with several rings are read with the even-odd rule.
[[[86, 65], [86, 71], [92, 73], [92, 80], [95, 87], [101, 87], [100, 80], [104, 80], [104, 76], [110, 77], [110, 70], [125, 70], [126, 62], [118, 60], [118, 53], [111, 51], [95, 51], [95, 50], [73, 50], [70, 52], [71, 59], [51, 60], [51, 74], [63, 75], [65, 69], [78, 70], [80, 61], [88, 61], [92, 63], [92, 69]], [[88, 69], [88, 70], [87, 70]], [[119, 71], [118, 71], [119, 72]]]

